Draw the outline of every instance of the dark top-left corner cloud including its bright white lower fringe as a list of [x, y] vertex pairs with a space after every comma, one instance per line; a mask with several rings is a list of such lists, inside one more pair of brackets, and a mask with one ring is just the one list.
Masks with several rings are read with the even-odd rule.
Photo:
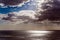
[[5, 8], [10, 7], [21, 7], [24, 3], [29, 2], [30, 0], [0, 0], [0, 6]]

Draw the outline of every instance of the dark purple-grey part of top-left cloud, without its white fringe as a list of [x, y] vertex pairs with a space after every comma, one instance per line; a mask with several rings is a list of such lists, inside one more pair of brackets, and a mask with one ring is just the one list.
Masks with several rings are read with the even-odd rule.
[[27, 0], [0, 0], [0, 3], [4, 3], [5, 5], [18, 5], [23, 1]]

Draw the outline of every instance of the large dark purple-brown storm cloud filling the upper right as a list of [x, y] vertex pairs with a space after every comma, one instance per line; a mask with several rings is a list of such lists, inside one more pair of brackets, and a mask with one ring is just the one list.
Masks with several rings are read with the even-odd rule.
[[[48, 1], [48, 0], [47, 0]], [[47, 3], [43, 3], [42, 10], [45, 10], [43, 12], [40, 12], [39, 21], [43, 20], [50, 20], [50, 21], [59, 21], [60, 20], [60, 0], [51, 0]]]

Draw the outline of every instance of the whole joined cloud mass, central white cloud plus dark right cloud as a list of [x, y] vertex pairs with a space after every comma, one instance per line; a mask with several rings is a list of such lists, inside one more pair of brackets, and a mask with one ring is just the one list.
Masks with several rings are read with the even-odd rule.
[[[38, 19], [45, 20], [57, 17], [58, 19], [60, 19], [59, 0], [34, 0], [34, 1], [36, 1], [35, 4], [37, 6], [36, 11], [22, 10], [19, 12], [11, 12], [8, 13], [6, 17], [2, 17], [2, 20], [23, 23], [23, 22], [32, 22]], [[58, 14], [56, 12], [58, 12]], [[36, 17], [36, 15], [39, 17]]]

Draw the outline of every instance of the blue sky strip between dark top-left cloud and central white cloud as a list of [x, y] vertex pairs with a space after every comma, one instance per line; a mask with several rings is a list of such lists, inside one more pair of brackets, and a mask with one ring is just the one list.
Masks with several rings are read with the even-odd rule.
[[21, 10], [35, 10], [36, 5], [35, 1], [30, 0], [29, 2], [25, 2], [22, 6], [0, 6], [0, 13], [7, 14], [9, 12], [18, 12]]

